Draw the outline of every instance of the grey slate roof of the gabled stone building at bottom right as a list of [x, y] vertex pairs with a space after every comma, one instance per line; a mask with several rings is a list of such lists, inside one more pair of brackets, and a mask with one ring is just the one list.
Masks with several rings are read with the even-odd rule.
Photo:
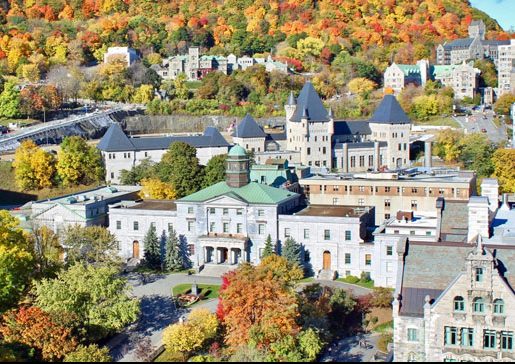
[[[515, 249], [488, 245], [502, 267], [508, 284], [515, 287]], [[475, 246], [463, 243], [409, 242], [402, 280], [401, 315], [422, 316], [424, 298], [437, 299], [466, 270], [466, 258]], [[438, 267], [438, 269], [435, 269]]]

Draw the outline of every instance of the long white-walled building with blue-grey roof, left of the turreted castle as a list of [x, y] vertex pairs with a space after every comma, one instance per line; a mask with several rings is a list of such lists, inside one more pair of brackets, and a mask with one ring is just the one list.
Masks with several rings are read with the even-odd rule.
[[213, 127], [206, 128], [203, 135], [128, 137], [118, 124], [113, 124], [97, 145], [104, 159], [106, 181], [120, 183], [121, 171], [131, 170], [143, 160], [160, 162], [174, 142], [184, 142], [195, 147], [199, 163], [203, 165], [212, 157], [226, 154], [229, 150], [229, 143]]

